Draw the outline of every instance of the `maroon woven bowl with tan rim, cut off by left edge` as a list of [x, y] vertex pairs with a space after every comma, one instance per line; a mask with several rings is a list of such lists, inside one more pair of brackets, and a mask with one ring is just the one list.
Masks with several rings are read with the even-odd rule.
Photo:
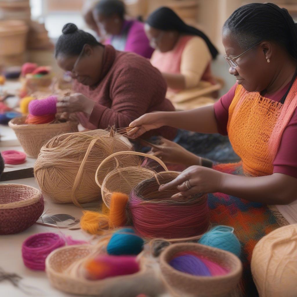
[[44, 202], [39, 190], [20, 184], [0, 184], [0, 234], [19, 233], [42, 215]]

